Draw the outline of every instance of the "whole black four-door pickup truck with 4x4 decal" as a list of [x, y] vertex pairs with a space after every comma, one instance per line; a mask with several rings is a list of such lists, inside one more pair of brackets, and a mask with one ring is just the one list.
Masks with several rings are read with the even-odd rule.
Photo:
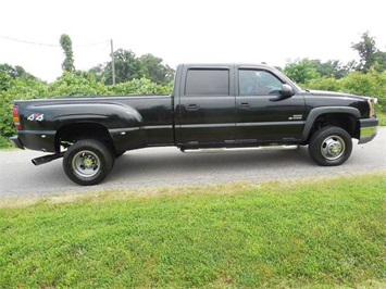
[[320, 165], [340, 165], [377, 134], [376, 99], [302, 90], [274, 67], [180, 64], [172, 96], [66, 97], [15, 101], [17, 148], [63, 156], [65, 174], [96, 185], [127, 150], [182, 151], [307, 146]]

